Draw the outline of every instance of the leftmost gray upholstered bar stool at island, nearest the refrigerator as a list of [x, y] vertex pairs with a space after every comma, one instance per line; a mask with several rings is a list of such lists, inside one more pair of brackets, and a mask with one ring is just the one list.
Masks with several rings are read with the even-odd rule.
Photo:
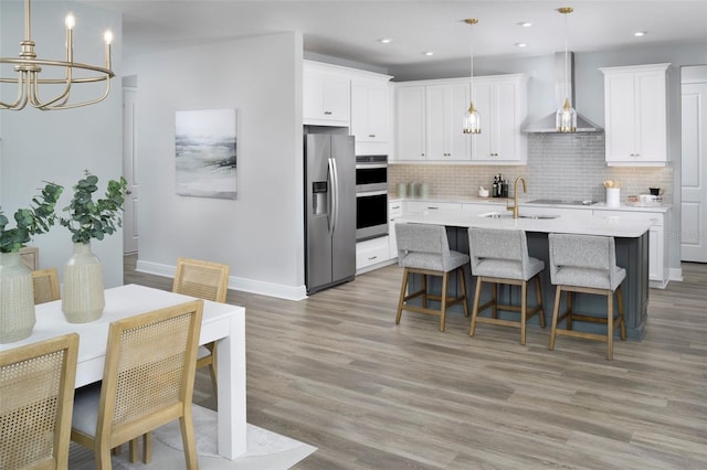
[[[395, 324], [400, 324], [403, 310], [428, 313], [440, 317], [440, 331], [444, 331], [446, 309], [455, 303], [462, 303], [464, 316], [468, 317], [466, 305], [466, 278], [464, 267], [468, 264], [468, 256], [450, 249], [446, 229], [442, 225], [428, 224], [395, 224], [395, 238], [398, 241], [398, 264], [404, 269], [400, 299], [398, 301], [398, 314]], [[456, 271], [460, 281], [461, 296], [450, 297], [447, 284], [450, 273]], [[414, 292], [408, 292], [410, 276], [421, 275], [422, 287]], [[428, 291], [428, 276], [442, 278], [440, 295]], [[410, 300], [421, 298], [422, 306], [409, 303]], [[440, 302], [440, 309], [429, 308], [429, 300]]]

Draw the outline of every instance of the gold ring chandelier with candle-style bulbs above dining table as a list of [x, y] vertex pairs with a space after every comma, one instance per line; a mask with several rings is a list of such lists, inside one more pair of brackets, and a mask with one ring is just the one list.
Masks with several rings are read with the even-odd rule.
[[[14, 66], [15, 76], [0, 76], [0, 83], [15, 84], [18, 88], [14, 102], [0, 102], [0, 109], [23, 109], [28, 104], [42, 110], [71, 109], [81, 106], [93, 105], [103, 102], [110, 92], [110, 78], [115, 76], [110, 70], [110, 42], [113, 34], [106, 31], [105, 40], [105, 67], [97, 65], [74, 62], [74, 24], [73, 14], [67, 14], [66, 24], [66, 56], [63, 61], [51, 61], [36, 58], [34, 53], [34, 41], [31, 38], [31, 15], [30, 0], [24, 0], [24, 40], [20, 42], [19, 58], [0, 57], [0, 65], [10, 64]], [[42, 67], [53, 71], [53, 76], [42, 76]], [[88, 72], [88, 76], [86, 75]], [[76, 74], [78, 73], [78, 74]], [[63, 77], [62, 77], [63, 75]], [[81, 76], [76, 76], [81, 75]], [[103, 94], [93, 99], [70, 102], [72, 86], [75, 84], [86, 84], [105, 82]], [[51, 95], [40, 97], [40, 93]]]

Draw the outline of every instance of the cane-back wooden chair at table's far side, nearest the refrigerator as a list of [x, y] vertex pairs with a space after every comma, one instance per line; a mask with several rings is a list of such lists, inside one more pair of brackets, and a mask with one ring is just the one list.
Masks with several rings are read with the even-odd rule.
[[[193, 258], [177, 258], [177, 271], [172, 292], [184, 293], [199, 299], [225, 302], [229, 289], [229, 265]], [[199, 346], [197, 368], [209, 367], [213, 395], [217, 394], [217, 348], [215, 342]]]

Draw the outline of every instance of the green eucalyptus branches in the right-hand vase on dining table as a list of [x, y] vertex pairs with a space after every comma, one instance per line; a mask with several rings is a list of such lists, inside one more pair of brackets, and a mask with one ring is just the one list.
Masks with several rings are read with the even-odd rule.
[[105, 197], [94, 202], [93, 194], [98, 191], [98, 178], [85, 171], [85, 178], [73, 186], [74, 196], [64, 212], [70, 217], [60, 217], [60, 224], [72, 233], [72, 242], [87, 244], [92, 238], [103, 239], [112, 235], [117, 227], [123, 226], [120, 211], [127, 181], [120, 177], [119, 181], [108, 181]]

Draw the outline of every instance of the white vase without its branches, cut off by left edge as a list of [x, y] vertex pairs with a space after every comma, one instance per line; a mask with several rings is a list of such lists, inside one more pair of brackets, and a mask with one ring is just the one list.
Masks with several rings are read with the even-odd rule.
[[19, 253], [0, 253], [0, 343], [24, 340], [35, 321], [32, 273]]

